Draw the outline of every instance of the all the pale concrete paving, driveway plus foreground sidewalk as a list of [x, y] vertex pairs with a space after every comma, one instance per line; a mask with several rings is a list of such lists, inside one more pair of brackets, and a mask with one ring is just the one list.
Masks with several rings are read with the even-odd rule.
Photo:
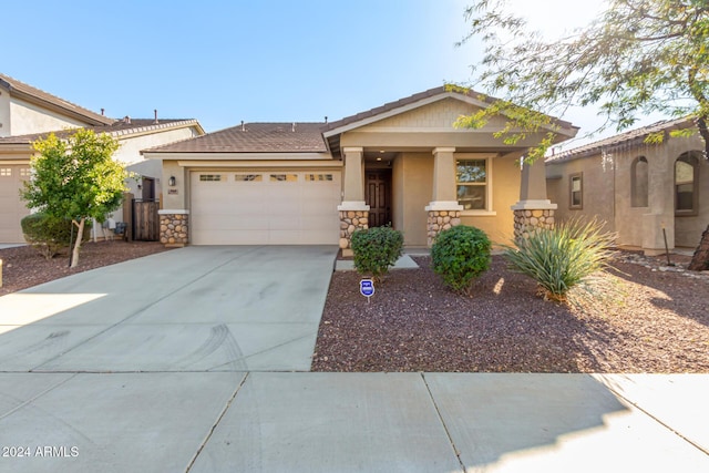
[[709, 471], [709, 376], [307, 372], [336, 250], [0, 297], [0, 472]]

